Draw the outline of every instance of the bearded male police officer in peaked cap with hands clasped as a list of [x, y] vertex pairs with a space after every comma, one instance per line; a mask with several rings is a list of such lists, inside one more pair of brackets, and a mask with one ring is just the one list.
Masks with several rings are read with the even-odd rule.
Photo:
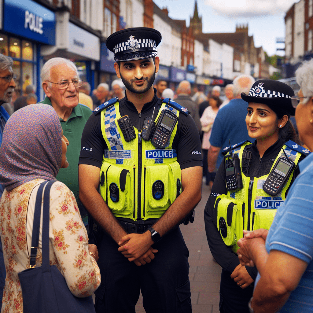
[[153, 89], [161, 38], [128, 28], [106, 40], [125, 98], [97, 107], [82, 136], [80, 199], [105, 230], [97, 243], [101, 313], [135, 313], [140, 289], [147, 313], [192, 312], [178, 225], [201, 199], [200, 138], [187, 109]]

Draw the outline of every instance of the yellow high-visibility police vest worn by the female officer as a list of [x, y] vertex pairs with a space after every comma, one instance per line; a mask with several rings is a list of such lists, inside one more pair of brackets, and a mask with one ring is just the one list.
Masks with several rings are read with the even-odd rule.
[[[242, 155], [244, 147], [251, 144], [245, 142], [242, 146], [233, 149], [233, 153], [237, 153], [240, 160], [240, 168], [242, 168]], [[291, 148], [290, 148], [291, 146]], [[287, 156], [297, 165], [301, 156], [302, 148], [293, 141], [288, 141], [282, 149], [285, 150]], [[270, 172], [275, 166], [278, 158], [284, 156], [283, 150], [275, 159]], [[307, 150], [302, 150], [307, 151]], [[307, 152], [306, 152], [307, 153]], [[305, 154], [306, 154], [305, 153]], [[243, 237], [243, 229], [255, 230], [259, 228], [269, 229], [277, 211], [277, 208], [284, 203], [286, 192], [290, 187], [294, 171], [290, 174], [288, 181], [285, 183], [280, 194], [271, 197], [263, 190], [263, 185], [269, 176], [246, 177], [241, 171], [243, 187], [235, 192], [227, 192], [227, 195], [218, 196], [214, 204], [214, 223], [221, 234], [224, 243], [231, 246], [236, 252], [239, 247], [237, 241]]]

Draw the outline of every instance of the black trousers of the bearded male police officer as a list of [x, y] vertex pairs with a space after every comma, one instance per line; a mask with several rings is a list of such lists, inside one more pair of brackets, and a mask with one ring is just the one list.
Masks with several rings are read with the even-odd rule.
[[95, 291], [97, 313], [135, 313], [141, 290], [147, 313], [191, 313], [189, 252], [179, 228], [153, 244], [151, 263], [129, 262], [107, 234], [98, 243], [101, 285]]

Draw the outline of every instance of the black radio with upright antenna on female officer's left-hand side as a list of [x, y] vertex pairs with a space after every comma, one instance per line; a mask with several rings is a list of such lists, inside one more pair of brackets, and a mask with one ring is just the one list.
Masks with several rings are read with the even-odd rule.
[[227, 190], [236, 190], [242, 188], [242, 177], [240, 169], [240, 160], [237, 153], [233, 153], [229, 140], [230, 154], [224, 156], [224, 164], [226, 171], [226, 187]]

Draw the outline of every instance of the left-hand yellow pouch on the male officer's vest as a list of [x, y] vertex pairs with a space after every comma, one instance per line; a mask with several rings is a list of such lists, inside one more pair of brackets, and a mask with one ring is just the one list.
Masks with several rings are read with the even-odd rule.
[[132, 212], [132, 167], [122, 168], [112, 164], [106, 175], [107, 204], [113, 214], [129, 215]]

